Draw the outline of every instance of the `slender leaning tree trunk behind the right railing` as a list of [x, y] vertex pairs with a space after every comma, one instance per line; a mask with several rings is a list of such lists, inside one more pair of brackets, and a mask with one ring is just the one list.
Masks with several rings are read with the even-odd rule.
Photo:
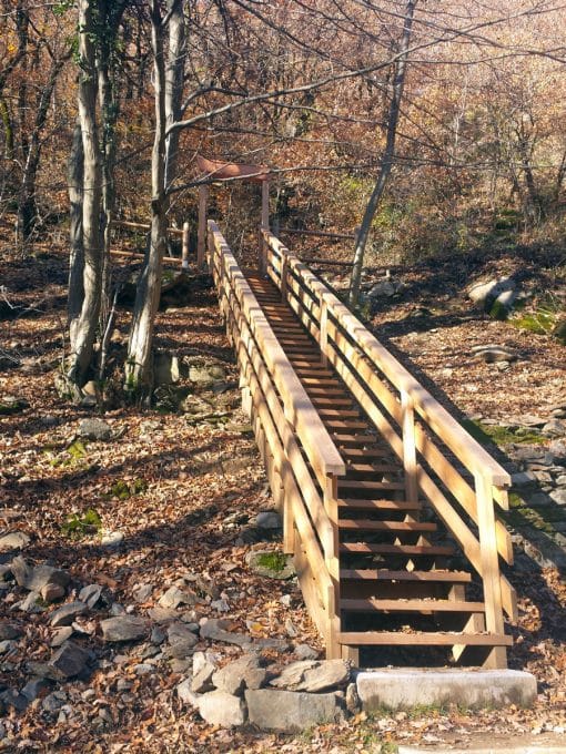
[[395, 140], [397, 136], [397, 123], [401, 112], [401, 102], [403, 99], [403, 88], [405, 85], [405, 73], [407, 68], [408, 48], [411, 44], [411, 31], [413, 27], [413, 18], [415, 14], [415, 7], [417, 0], [407, 0], [405, 9], [405, 22], [403, 27], [403, 35], [401, 38], [400, 51], [397, 61], [395, 63], [395, 78], [393, 81], [393, 95], [390, 104], [390, 116], [387, 121], [387, 139], [385, 143], [385, 151], [383, 153], [380, 175], [375, 183], [370, 201], [364, 212], [360, 232], [356, 235], [356, 245], [354, 252], [354, 266], [352, 268], [352, 278], [350, 284], [350, 306], [357, 306], [360, 297], [360, 284], [362, 282], [362, 269], [364, 266], [365, 247], [370, 237], [372, 228], [372, 221], [375, 216], [377, 207], [380, 206], [383, 192], [390, 177], [393, 161], [395, 160]]

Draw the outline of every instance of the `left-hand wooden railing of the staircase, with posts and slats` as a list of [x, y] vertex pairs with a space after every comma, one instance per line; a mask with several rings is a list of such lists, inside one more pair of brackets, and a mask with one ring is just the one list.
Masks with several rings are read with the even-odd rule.
[[340, 656], [336, 498], [345, 465], [212, 221], [208, 262], [237, 354], [243, 405], [283, 512], [284, 550], [295, 556], [305, 602], [329, 654]]

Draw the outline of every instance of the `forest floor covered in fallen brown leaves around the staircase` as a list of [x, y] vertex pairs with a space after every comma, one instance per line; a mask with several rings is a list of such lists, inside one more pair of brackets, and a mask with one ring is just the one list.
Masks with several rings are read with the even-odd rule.
[[[403, 296], [374, 316], [380, 336], [462, 416], [504, 424], [509, 417], [547, 414], [564, 403], [566, 348], [548, 336], [525, 334], [471, 310], [458, 293], [463, 281], [457, 267], [444, 273], [454, 291], [446, 289], [441, 271], [435, 278], [408, 271]], [[228, 617], [234, 629], [254, 638], [280, 636], [322, 649], [294, 580], [267, 580], [246, 566], [250, 550], [276, 549], [280, 542], [253, 526], [254, 516], [269, 510], [271, 499], [253, 436], [239, 410], [236, 368], [212, 294], [195, 292], [185, 305], [170, 306], [160, 313], [156, 327], [160, 349], [223, 370], [224, 385], [216, 396], [199, 394], [199, 400], [213, 406], [210, 416], [141, 412], [118, 403], [103, 415], [112, 439], [87, 441], [78, 439], [79, 427], [92, 409], [72, 406], [54, 387], [67, 345], [65, 278], [63, 256], [24, 262], [9, 254], [1, 257], [0, 404], [14, 397], [20, 408], [0, 416], [0, 534], [24, 532], [30, 541], [21, 554], [29, 562], [68, 571], [77, 590], [103, 584], [107, 602], [73, 624], [73, 641], [93, 652], [95, 668], [88, 676], [60, 684], [59, 704], [46, 709], [44, 690], [21, 712], [8, 705], [0, 722], [0, 751], [279, 748], [338, 754], [393, 752], [396, 744], [431, 751], [443, 745], [455, 751], [474, 744], [564, 745], [566, 587], [552, 560], [540, 563], [525, 556], [511, 571], [519, 620], [512, 628], [509, 665], [536, 676], [539, 694], [532, 710], [362, 713], [299, 736], [224, 731], [206, 725], [178, 697], [175, 687], [186, 670], [182, 661], [152, 662], [146, 645], [117, 650], [103, 642], [99, 622], [109, 610], [118, 614], [122, 605], [146, 615], [184, 578], [198, 584], [189, 611], [192, 620]], [[124, 309], [113, 338], [117, 354], [127, 329]], [[513, 347], [524, 358], [507, 370], [473, 359], [473, 347], [487, 342]], [[84, 518], [88, 510], [97, 514], [91, 523]], [[528, 529], [519, 539], [525, 544]], [[562, 540], [553, 542], [562, 547]], [[0, 566], [7, 560], [0, 552]], [[49, 617], [54, 608], [23, 612], [17, 605], [24, 597], [12, 582], [4, 584], [0, 617], [23, 633], [0, 658], [0, 691], [22, 687], [29, 680], [28, 663], [42, 662], [52, 652]], [[215, 650], [224, 658], [236, 652]], [[272, 661], [284, 659], [274, 654]]]

